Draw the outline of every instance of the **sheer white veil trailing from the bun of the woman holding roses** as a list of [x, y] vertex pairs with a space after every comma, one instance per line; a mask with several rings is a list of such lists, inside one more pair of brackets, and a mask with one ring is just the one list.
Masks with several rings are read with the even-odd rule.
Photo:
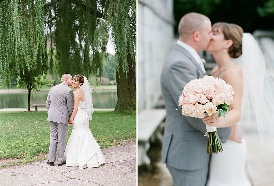
[[274, 153], [274, 82], [252, 34], [243, 33], [242, 55], [233, 60], [242, 68], [243, 77], [240, 127], [259, 140], [261, 152]]

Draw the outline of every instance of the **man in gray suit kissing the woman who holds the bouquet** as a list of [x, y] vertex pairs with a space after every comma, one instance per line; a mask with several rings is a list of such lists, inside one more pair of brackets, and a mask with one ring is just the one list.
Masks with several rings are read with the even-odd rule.
[[[207, 49], [211, 21], [207, 16], [188, 13], [178, 27], [179, 40], [164, 63], [161, 88], [166, 105], [166, 127], [162, 162], [166, 163], [174, 185], [206, 185], [210, 155], [207, 153], [206, 126], [201, 118], [185, 117], [178, 107], [184, 86], [192, 79], [203, 78], [205, 69], [197, 52]], [[217, 116], [216, 116], [217, 117]], [[219, 121], [217, 121], [219, 122]], [[234, 139], [235, 129], [218, 128], [220, 140]]]

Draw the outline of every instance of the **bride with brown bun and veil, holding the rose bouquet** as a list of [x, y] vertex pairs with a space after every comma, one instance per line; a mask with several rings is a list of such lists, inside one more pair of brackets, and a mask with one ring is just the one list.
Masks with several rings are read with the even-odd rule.
[[[249, 131], [257, 136], [265, 152], [273, 140], [273, 82], [265, 69], [265, 60], [258, 43], [250, 33], [236, 24], [225, 22], [212, 26], [212, 40], [208, 51], [213, 55], [217, 66], [211, 75], [224, 79], [235, 92], [234, 102], [225, 118], [215, 115], [205, 117], [203, 122], [210, 126], [236, 127], [241, 136]], [[269, 104], [270, 103], [270, 104]], [[215, 119], [216, 118], [216, 119]], [[239, 126], [241, 128], [239, 128]], [[222, 143], [224, 151], [211, 155], [209, 179], [207, 186], [250, 186], [245, 174], [247, 146], [245, 138], [241, 142], [227, 140]]]

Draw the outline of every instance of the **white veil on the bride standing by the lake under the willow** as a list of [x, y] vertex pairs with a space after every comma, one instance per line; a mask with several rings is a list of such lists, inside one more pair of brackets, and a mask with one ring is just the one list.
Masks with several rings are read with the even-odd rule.
[[93, 104], [92, 104], [92, 89], [89, 84], [89, 81], [84, 76], [84, 84], [80, 86], [85, 94], [85, 109], [87, 114], [89, 115], [89, 120], [91, 120], [91, 114], [94, 112]]

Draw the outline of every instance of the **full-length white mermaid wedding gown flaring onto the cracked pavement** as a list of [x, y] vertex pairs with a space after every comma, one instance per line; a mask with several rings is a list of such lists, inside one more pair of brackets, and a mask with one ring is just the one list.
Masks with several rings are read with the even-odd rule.
[[89, 117], [85, 103], [79, 101], [72, 132], [65, 149], [66, 166], [92, 168], [106, 162], [102, 151], [89, 129]]

